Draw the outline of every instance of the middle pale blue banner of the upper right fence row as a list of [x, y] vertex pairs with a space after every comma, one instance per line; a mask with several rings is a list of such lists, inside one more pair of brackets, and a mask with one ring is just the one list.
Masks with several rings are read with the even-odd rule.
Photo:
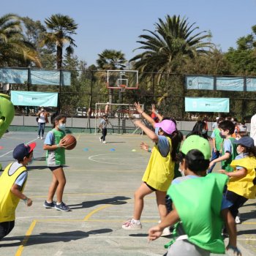
[[220, 91], [244, 91], [244, 78], [216, 78], [216, 89]]

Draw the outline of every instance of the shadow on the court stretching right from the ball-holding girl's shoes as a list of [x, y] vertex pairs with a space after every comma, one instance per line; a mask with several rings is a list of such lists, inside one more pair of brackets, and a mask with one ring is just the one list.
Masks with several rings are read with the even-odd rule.
[[111, 204], [111, 205], [123, 205], [127, 203], [125, 200], [131, 199], [130, 197], [112, 197], [102, 200], [93, 200], [93, 201], [86, 201], [83, 203], [78, 203], [74, 205], [69, 205], [69, 207], [72, 210], [80, 209], [80, 208], [91, 208], [98, 205], [105, 205], [105, 204]]

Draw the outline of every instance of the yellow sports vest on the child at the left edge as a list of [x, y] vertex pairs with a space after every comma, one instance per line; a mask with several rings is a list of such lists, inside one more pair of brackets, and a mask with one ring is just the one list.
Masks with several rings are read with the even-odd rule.
[[[12, 185], [15, 184], [18, 176], [26, 171], [26, 167], [19, 167], [15, 173], [10, 176], [9, 170], [12, 164], [13, 163], [4, 169], [4, 172], [0, 177], [0, 222], [11, 222], [12, 220], [15, 220], [15, 209], [20, 201], [20, 198], [12, 194], [11, 188]], [[25, 184], [23, 185], [21, 192], [23, 192]]]

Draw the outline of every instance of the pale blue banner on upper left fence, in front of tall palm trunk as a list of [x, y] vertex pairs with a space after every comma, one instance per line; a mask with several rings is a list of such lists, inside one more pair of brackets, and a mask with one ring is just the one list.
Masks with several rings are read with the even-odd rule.
[[45, 86], [59, 86], [61, 82], [61, 86], [70, 86], [70, 72], [69, 71], [61, 71], [61, 79], [60, 79], [60, 71], [59, 70], [39, 70], [39, 69], [31, 69], [30, 73], [30, 83], [37, 85], [45, 85]]

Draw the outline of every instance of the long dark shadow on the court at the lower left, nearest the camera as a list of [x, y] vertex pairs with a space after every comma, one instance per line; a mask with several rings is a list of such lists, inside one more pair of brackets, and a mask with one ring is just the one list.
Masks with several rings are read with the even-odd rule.
[[[70, 231], [70, 232], [60, 232], [60, 233], [39, 233], [39, 235], [31, 235], [29, 236], [29, 241], [26, 246], [35, 245], [35, 244], [50, 244], [56, 242], [64, 242], [67, 243], [69, 241], [75, 241], [83, 238], [87, 238], [91, 235], [110, 233], [113, 230], [110, 228], [102, 228], [99, 230], [91, 230], [89, 232], [83, 232], [80, 230]], [[0, 241], [0, 247], [11, 247], [11, 246], [20, 246], [20, 242], [23, 241], [24, 236], [12, 236], [3, 238]], [[17, 240], [19, 240], [17, 242]], [[11, 244], [1, 244], [4, 241], [15, 241], [15, 243]]]

